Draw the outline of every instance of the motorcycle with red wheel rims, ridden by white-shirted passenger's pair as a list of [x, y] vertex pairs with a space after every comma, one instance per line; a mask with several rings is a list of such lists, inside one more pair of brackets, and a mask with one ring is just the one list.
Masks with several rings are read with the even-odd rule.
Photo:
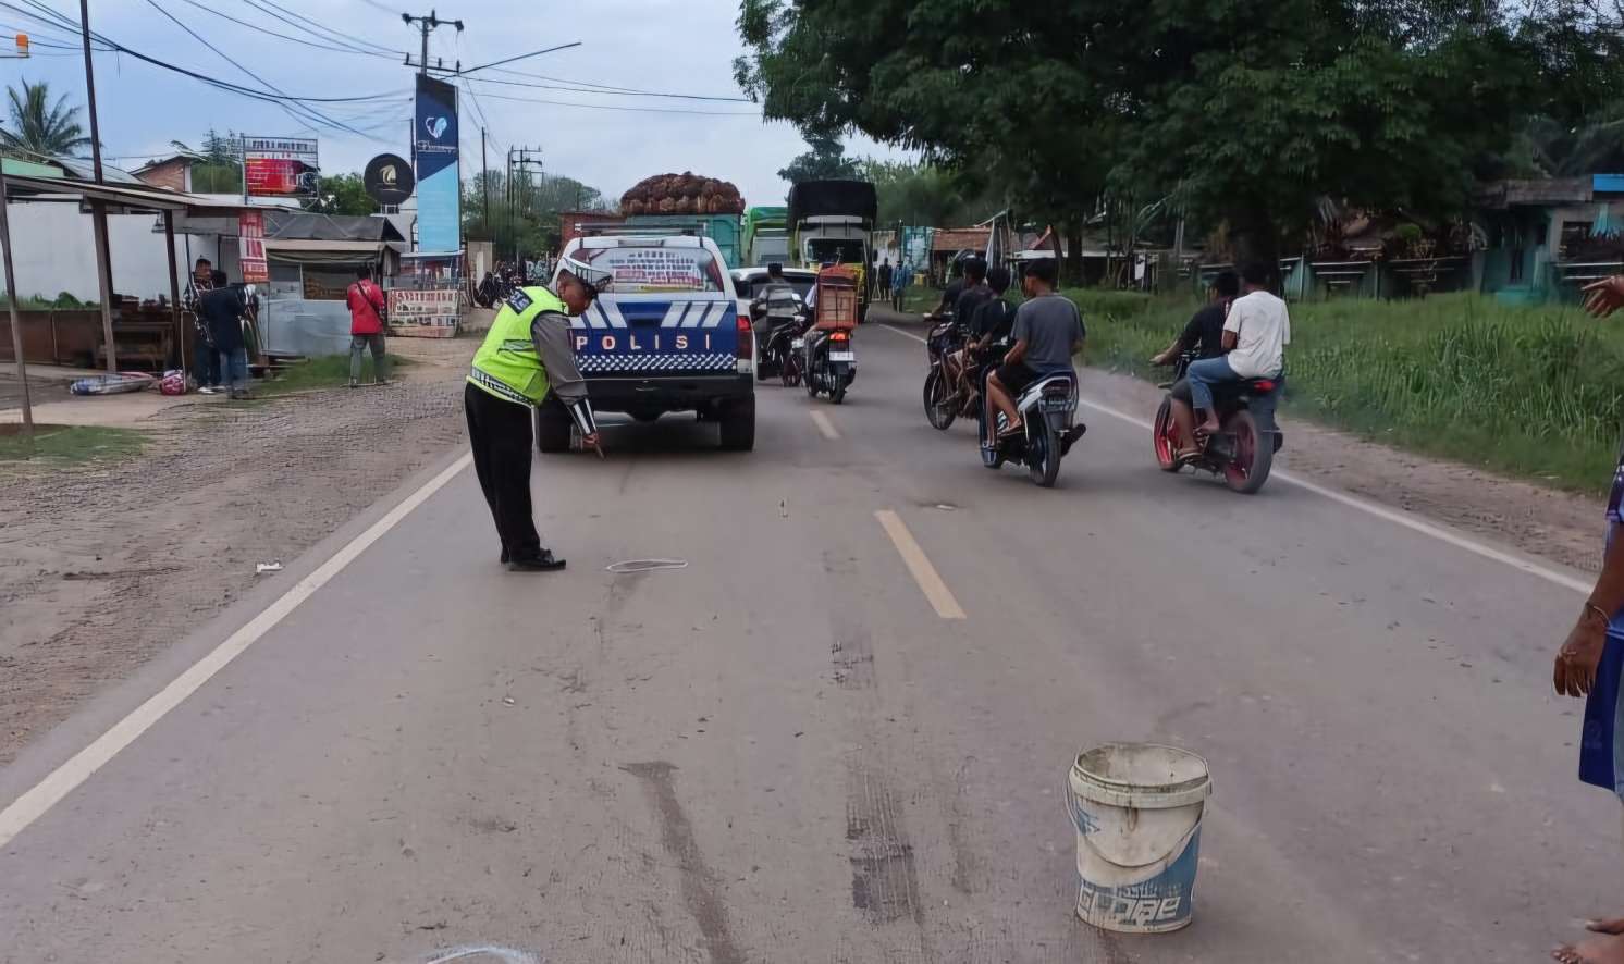
[[1285, 433], [1275, 422], [1275, 407], [1285, 388], [1285, 377], [1280, 378], [1247, 378], [1233, 385], [1215, 386], [1213, 404], [1218, 407], [1218, 432], [1200, 438], [1200, 450], [1194, 456], [1177, 458], [1174, 453], [1182, 448], [1179, 424], [1173, 419], [1173, 385], [1184, 378], [1195, 352], [1179, 355], [1173, 370], [1173, 381], [1163, 383], [1168, 396], [1156, 409], [1156, 422], [1151, 425], [1151, 441], [1156, 450], [1156, 464], [1164, 472], [1177, 472], [1184, 466], [1223, 476], [1224, 485], [1242, 495], [1252, 495], [1268, 480], [1268, 469], [1275, 461], [1275, 453], [1286, 443]]

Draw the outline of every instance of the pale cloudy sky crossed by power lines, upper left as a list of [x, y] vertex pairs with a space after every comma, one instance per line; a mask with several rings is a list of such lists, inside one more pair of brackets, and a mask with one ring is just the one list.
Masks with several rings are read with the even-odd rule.
[[[78, 5], [70, 0], [39, 0], [78, 21]], [[333, 130], [313, 131], [322, 141], [325, 172], [359, 170], [374, 154], [390, 151], [408, 156], [412, 71], [400, 55], [367, 57], [354, 52], [322, 50], [268, 36], [221, 15], [263, 26], [291, 37], [344, 45], [333, 36], [294, 16], [278, 13], [279, 5], [310, 21], [414, 55], [419, 34], [401, 23], [406, 10], [398, 0], [91, 0], [91, 26], [119, 44], [198, 73], [235, 84], [260, 88], [261, 81], [185, 34], [154, 8], [158, 3], [185, 21], [205, 41], [263, 78], [265, 86], [309, 97], [391, 94], [380, 104], [317, 105], [367, 136]], [[411, 13], [417, 10], [416, 2]], [[54, 97], [67, 93], [83, 104], [84, 73], [70, 50], [45, 47], [78, 41], [62, 28], [44, 28], [34, 16], [11, 10], [28, 8], [26, 0], [0, 0], [0, 31], [23, 29], [34, 41], [31, 60], [0, 60], [0, 78], [49, 81]], [[442, 19], [461, 18], [466, 29], [440, 28], [430, 36], [430, 60], [442, 57], [450, 67], [487, 63], [581, 41], [560, 50], [510, 65], [534, 76], [482, 71], [492, 81], [520, 84], [598, 84], [637, 91], [739, 97], [732, 80], [732, 58], [742, 52], [732, 0], [588, 0], [577, 3], [526, 3], [523, 0], [432, 0]], [[271, 13], [268, 13], [268, 10]], [[10, 47], [10, 44], [5, 44]], [[10, 50], [6, 50], [10, 52]], [[783, 203], [788, 185], [781, 169], [806, 149], [788, 123], [763, 123], [754, 104], [723, 101], [680, 101], [645, 96], [583, 94], [578, 91], [531, 86], [473, 84], [474, 97], [460, 93], [463, 123], [463, 177], [479, 167], [479, 128], [489, 131], [489, 157], [500, 167], [508, 146], [541, 146], [546, 170], [577, 177], [606, 196], [619, 198], [637, 180], [667, 170], [693, 170], [739, 185], [752, 204]], [[274, 104], [213, 89], [195, 80], [169, 73], [120, 54], [96, 55], [96, 94], [101, 135], [107, 156], [120, 167], [133, 167], [167, 149], [171, 140], [197, 146], [213, 127], [248, 135], [310, 136], [309, 122], [294, 120]], [[516, 101], [518, 99], [518, 101]], [[539, 104], [534, 101], [554, 101]], [[568, 105], [564, 105], [568, 104]], [[611, 110], [614, 107], [614, 110]], [[708, 110], [716, 114], [659, 114], [656, 110]], [[856, 156], [898, 157], [901, 153], [866, 138], [848, 141]]]

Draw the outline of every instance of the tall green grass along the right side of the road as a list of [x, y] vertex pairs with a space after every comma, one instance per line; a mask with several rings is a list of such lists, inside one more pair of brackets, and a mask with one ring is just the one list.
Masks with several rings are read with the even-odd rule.
[[[1195, 310], [1069, 290], [1088, 357], [1150, 375]], [[1624, 326], [1475, 294], [1291, 305], [1286, 411], [1421, 453], [1598, 492], [1624, 414]]]

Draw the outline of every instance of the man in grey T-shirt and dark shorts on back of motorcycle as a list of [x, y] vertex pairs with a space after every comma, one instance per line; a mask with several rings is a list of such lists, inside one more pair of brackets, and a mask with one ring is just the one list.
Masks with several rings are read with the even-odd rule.
[[1015, 344], [1004, 355], [1004, 364], [987, 377], [987, 402], [1004, 412], [1005, 419], [999, 438], [1010, 438], [1023, 430], [1015, 396], [1028, 385], [1060, 372], [1070, 372], [1077, 378], [1072, 355], [1083, 344], [1086, 329], [1077, 305], [1056, 290], [1059, 281], [1060, 265], [1054, 258], [1026, 263], [1021, 276], [1026, 300], [1015, 310], [1015, 326], [1010, 331]]

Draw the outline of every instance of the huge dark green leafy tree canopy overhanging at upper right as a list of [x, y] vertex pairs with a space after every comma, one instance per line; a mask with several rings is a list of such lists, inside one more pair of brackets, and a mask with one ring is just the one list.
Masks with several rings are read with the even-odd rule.
[[1585, 0], [742, 0], [739, 29], [767, 117], [919, 148], [1067, 234], [1109, 193], [1265, 263], [1325, 196], [1458, 214], [1523, 115], [1624, 89]]

